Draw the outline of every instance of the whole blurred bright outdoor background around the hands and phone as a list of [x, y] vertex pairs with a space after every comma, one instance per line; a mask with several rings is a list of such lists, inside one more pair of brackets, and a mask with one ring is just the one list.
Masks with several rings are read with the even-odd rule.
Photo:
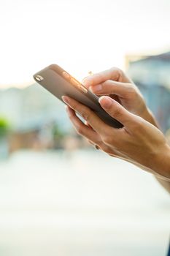
[[32, 75], [116, 66], [170, 141], [169, 0], [0, 1], [0, 255], [166, 255], [170, 200], [94, 150]]

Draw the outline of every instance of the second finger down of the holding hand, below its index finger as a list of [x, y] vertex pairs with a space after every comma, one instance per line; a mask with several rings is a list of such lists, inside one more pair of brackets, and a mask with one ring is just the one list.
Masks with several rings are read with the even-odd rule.
[[72, 108], [67, 106], [66, 111], [77, 133], [84, 136], [88, 140], [93, 141], [93, 143], [98, 144], [98, 134], [93, 129], [83, 124], [80, 118], [76, 116], [76, 113]]

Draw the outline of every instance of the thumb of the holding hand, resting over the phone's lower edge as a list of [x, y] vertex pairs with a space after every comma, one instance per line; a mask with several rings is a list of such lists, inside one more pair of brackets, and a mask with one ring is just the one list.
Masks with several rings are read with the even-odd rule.
[[134, 121], [136, 122], [136, 116], [128, 112], [128, 110], [123, 108], [123, 106], [114, 99], [107, 96], [102, 96], [98, 99], [98, 102], [100, 103], [101, 108], [103, 108], [109, 114], [109, 116], [112, 116], [117, 121], [120, 121], [120, 123], [125, 127], [131, 129]]

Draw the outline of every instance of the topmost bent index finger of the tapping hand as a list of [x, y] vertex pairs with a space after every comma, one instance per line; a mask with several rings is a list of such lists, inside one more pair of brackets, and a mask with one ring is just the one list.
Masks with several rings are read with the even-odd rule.
[[84, 80], [82, 80], [82, 84], [85, 87], [89, 88], [90, 86], [94, 86], [98, 83], [103, 83], [106, 80], [115, 80], [123, 83], [131, 83], [130, 78], [128, 78], [121, 69], [112, 67], [111, 69], [89, 75]]

